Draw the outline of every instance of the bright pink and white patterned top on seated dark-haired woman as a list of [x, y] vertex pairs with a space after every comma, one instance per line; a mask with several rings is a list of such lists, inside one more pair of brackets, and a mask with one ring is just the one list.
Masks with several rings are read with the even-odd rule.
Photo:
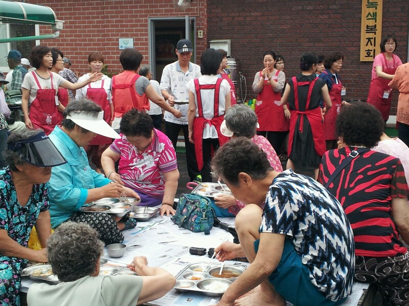
[[163, 173], [177, 169], [176, 152], [164, 133], [153, 131], [152, 142], [143, 152], [138, 152], [123, 134], [110, 148], [121, 155], [119, 174], [126, 187], [161, 198], [165, 190]]

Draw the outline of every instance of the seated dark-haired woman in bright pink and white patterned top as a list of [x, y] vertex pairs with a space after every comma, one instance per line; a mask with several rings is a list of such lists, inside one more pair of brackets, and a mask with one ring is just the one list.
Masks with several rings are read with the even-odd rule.
[[[174, 215], [173, 200], [179, 171], [172, 142], [154, 129], [152, 118], [132, 109], [122, 117], [122, 134], [107, 148], [101, 164], [108, 179], [138, 192], [141, 205], [161, 206], [161, 215]], [[119, 160], [119, 173], [115, 162]]]

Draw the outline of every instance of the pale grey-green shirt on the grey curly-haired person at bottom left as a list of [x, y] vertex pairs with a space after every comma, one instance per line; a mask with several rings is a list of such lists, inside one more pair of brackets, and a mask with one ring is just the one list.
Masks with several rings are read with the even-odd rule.
[[142, 290], [136, 275], [84, 276], [57, 285], [33, 284], [27, 293], [30, 306], [135, 306]]

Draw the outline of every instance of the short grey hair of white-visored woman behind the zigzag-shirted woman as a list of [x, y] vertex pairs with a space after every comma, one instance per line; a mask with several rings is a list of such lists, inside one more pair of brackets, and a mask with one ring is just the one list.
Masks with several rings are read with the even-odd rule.
[[235, 137], [252, 138], [257, 130], [257, 115], [246, 105], [236, 104], [224, 116], [227, 128]]

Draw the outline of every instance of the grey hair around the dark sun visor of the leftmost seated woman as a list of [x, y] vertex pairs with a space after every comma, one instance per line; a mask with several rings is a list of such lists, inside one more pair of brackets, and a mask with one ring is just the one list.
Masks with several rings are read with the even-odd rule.
[[[41, 129], [38, 130], [21, 130], [18, 132], [11, 133], [9, 138], [7, 139], [7, 145], [13, 144], [22, 140], [29, 139], [41, 132], [44, 132]], [[27, 163], [25, 159], [25, 154], [21, 154], [20, 151], [13, 151], [6, 148], [3, 152], [3, 155], [6, 159], [6, 163], [9, 165], [10, 170], [12, 171], [19, 171], [16, 165], [22, 165]]]

